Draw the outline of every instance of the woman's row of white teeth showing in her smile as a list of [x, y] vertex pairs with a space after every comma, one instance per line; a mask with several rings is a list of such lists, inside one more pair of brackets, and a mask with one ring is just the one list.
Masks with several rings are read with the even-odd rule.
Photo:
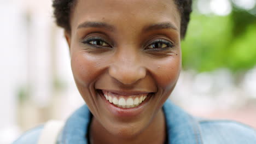
[[115, 106], [126, 109], [138, 106], [147, 98], [146, 94], [118, 96], [117, 94], [112, 94], [107, 91], [103, 91], [103, 94], [109, 103], [113, 103]]

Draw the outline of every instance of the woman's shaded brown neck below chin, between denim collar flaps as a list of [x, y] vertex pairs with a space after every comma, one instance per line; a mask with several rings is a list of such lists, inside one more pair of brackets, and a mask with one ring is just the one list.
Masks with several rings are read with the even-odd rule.
[[[101, 131], [99, 133], [99, 131]], [[166, 140], [166, 126], [165, 126], [165, 116], [162, 109], [155, 115], [153, 121], [149, 123], [147, 128], [145, 128], [141, 133], [136, 136], [130, 136], [130, 138], [117, 137], [110, 134], [102, 125], [93, 117], [91, 128], [90, 128], [90, 144], [98, 143], [148, 143], [162, 144]]]

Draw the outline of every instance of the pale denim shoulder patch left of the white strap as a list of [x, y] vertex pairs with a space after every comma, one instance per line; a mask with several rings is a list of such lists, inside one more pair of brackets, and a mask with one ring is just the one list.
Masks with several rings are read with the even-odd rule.
[[37, 143], [44, 125], [39, 125], [36, 128], [26, 131], [19, 137], [18, 140], [14, 141], [13, 144], [34, 144]]

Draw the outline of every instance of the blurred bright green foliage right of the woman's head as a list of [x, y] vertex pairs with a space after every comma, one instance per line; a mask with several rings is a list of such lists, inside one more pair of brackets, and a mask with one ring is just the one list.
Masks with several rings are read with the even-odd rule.
[[256, 16], [235, 7], [227, 16], [193, 13], [182, 52], [184, 69], [251, 69], [256, 65]]

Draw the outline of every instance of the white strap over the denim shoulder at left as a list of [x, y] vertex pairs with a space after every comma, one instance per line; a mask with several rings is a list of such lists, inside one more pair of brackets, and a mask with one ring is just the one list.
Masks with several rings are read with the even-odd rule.
[[55, 144], [63, 125], [64, 122], [62, 121], [48, 121], [44, 125], [44, 129], [39, 137], [38, 144]]

